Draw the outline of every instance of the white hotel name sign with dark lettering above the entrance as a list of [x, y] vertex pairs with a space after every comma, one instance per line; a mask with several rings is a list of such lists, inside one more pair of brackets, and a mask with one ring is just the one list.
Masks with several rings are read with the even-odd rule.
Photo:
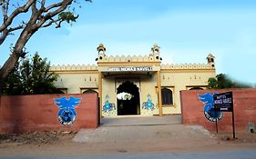
[[118, 66], [108, 67], [109, 72], [148, 72], [153, 71], [152, 66]]

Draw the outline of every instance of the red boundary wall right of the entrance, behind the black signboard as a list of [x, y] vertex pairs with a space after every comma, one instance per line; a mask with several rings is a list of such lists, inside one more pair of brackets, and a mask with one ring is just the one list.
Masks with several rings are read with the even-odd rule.
[[[246, 131], [249, 122], [256, 123], [256, 89], [221, 89], [221, 90], [191, 90], [181, 91], [180, 101], [183, 124], [201, 124], [205, 128], [215, 131], [215, 123], [210, 122], [204, 115], [204, 104], [200, 102], [199, 95], [206, 93], [233, 93], [235, 127], [238, 131]], [[232, 131], [231, 113], [223, 113], [218, 122], [220, 131]]]

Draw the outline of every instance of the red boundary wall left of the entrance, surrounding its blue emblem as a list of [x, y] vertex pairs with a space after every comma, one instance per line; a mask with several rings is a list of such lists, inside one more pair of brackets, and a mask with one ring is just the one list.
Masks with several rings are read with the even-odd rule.
[[[76, 106], [76, 121], [63, 126], [58, 121], [59, 106], [55, 99], [81, 98]], [[79, 130], [97, 128], [97, 94], [37, 94], [1, 96], [0, 133], [29, 131]]]

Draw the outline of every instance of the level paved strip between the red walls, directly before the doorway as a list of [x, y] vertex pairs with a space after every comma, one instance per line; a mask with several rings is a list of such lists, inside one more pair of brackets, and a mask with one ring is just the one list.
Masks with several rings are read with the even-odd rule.
[[164, 116], [122, 115], [118, 117], [104, 117], [101, 119], [100, 124], [101, 126], [181, 124], [181, 115], [164, 115]]

